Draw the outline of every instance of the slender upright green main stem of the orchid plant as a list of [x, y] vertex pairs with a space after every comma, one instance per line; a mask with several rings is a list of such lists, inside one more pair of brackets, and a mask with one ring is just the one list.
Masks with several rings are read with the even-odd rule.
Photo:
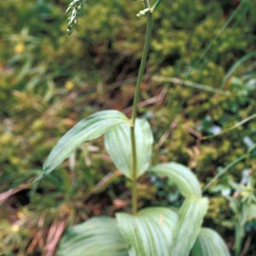
[[[144, 0], [146, 8], [150, 8], [149, 1]], [[148, 58], [148, 50], [150, 46], [150, 39], [152, 33], [152, 15], [150, 12], [147, 13], [147, 30], [146, 38], [143, 48], [143, 56], [137, 75], [137, 84], [135, 95], [133, 98], [132, 114], [131, 114], [131, 168], [132, 168], [132, 183], [131, 183], [131, 207], [132, 213], [137, 213], [137, 149], [136, 149], [136, 137], [135, 137], [135, 119], [137, 117], [137, 102], [139, 100], [140, 88], [143, 81], [143, 74], [146, 67]]]

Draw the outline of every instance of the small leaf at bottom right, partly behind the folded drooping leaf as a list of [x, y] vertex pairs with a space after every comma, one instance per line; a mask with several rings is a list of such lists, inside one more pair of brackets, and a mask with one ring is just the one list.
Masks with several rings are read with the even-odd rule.
[[218, 233], [211, 229], [201, 229], [195, 245], [192, 249], [192, 256], [230, 256], [229, 249]]

